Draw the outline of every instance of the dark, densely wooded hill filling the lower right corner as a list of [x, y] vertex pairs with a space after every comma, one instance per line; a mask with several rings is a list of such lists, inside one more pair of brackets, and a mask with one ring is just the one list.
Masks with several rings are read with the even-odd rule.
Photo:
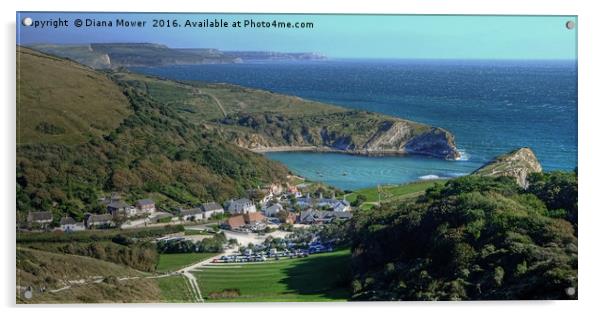
[[357, 212], [356, 300], [577, 299], [577, 176], [466, 176]]

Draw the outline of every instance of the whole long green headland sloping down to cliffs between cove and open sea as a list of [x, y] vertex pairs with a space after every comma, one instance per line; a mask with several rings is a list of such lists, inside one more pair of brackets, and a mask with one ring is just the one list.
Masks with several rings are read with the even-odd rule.
[[391, 116], [231, 84], [174, 82], [131, 73], [116, 77], [257, 152], [460, 156], [448, 131]]

